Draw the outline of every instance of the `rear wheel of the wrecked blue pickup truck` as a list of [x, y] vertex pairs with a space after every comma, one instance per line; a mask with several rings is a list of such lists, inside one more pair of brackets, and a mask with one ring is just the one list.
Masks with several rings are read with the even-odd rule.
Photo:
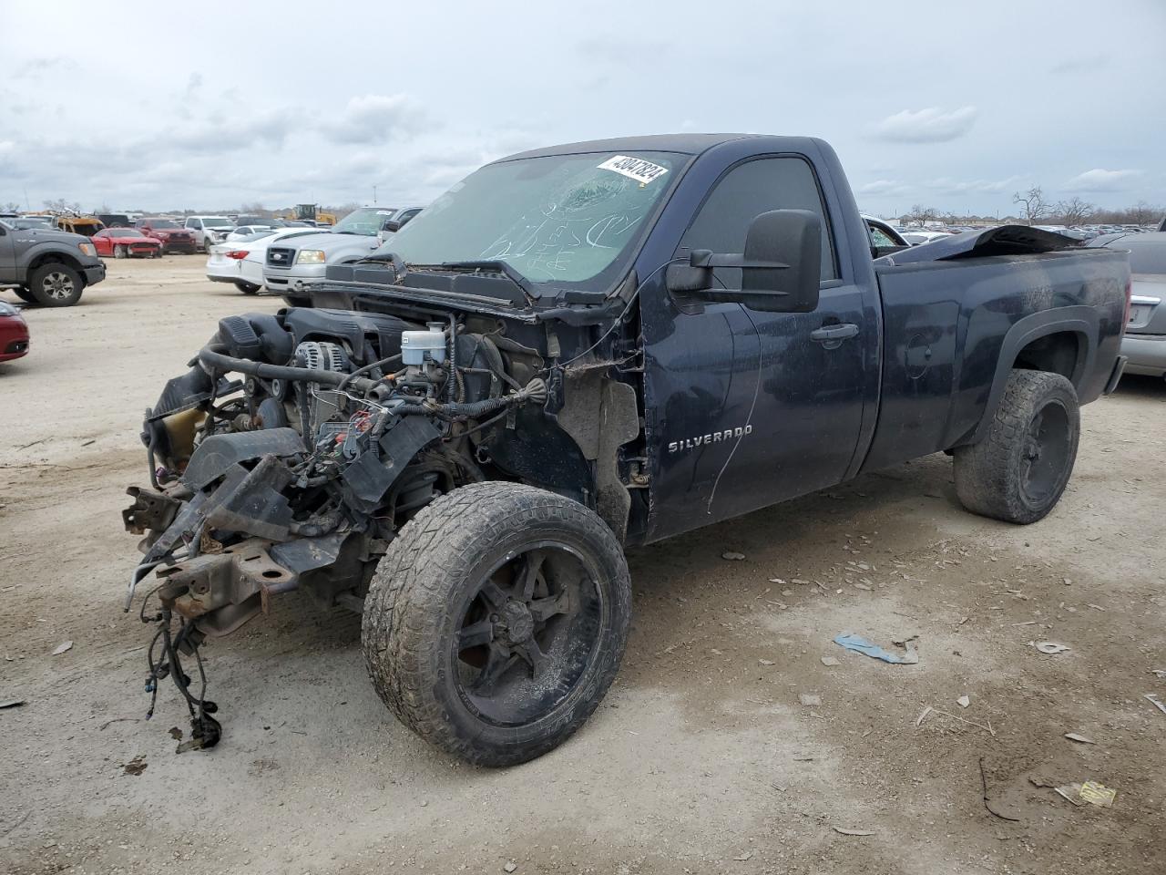
[[1012, 371], [988, 434], [955, 450], [960, 502], [1006, 523], [1044, 519], [1073, 474], [1080, 434], [1077, 393], [1069, 380]]

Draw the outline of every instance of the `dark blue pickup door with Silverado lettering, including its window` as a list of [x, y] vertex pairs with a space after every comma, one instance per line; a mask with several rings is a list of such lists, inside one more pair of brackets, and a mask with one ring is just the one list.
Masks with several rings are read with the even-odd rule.
[[[877, 327], [866, 324], [864, 289], [840, 278], [809, 162], [778, 155], [731, 167], [676, 256], [740, 253], [752, 219], [777, 209], [821, 217], [817, 309], [764, 313], [704, 302], [686, 313], [663, 300], [645, 315], [652, 540], [840, 483], [854, 460]], [[715, 276], [726, 289], [740, 288], [739, 270], [717, 268]]]

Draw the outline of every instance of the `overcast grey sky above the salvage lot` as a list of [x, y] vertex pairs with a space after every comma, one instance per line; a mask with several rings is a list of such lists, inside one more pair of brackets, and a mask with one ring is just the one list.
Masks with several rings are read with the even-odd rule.
[[1166, 0], [540, 6], [0, 0], [0, 204], [421, 204], [675, 131], [822, 136], [879, 215], [1166, 203]]

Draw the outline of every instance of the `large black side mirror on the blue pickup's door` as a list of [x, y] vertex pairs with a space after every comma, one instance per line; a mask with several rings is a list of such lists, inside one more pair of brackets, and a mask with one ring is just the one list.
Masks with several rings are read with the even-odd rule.
[[[742, 287], [712, 288], [716, 267], [740, 268]], [[767, 313], [810, 313], [821, 281], [822, 223], [809, 210], [763, 212], [749, 225], [744, 253], [694, 250], [687, 265], [670, 265], [666, 274], [669, 292]]]

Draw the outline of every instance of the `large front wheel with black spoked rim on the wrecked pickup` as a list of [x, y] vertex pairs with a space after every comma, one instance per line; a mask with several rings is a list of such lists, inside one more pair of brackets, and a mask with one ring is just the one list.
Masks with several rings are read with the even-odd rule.
[[406, 524], [365, 600], [361, 644], [389, 709], [479, 765], [566, 741], [611, 686], [631, 583], [577, 502], [514, 483], [441, 496]]

